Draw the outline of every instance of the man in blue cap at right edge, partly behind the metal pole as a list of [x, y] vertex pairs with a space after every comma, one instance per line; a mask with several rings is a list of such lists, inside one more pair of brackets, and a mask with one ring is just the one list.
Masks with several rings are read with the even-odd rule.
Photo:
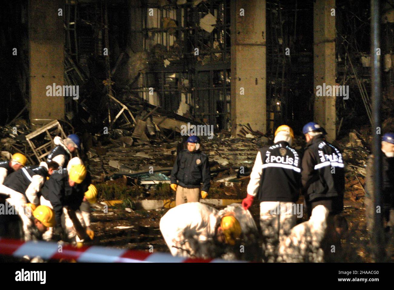
[[[394, 227], [394, 133], [386, 133], [382, 137], [382, 196], [381, 217], [385, 227]], [[375, 204], [374, 204], [374, 155], [370, 155], [366, 164], [366, 198], [365, 208], [367, 228], [372, 231]]]

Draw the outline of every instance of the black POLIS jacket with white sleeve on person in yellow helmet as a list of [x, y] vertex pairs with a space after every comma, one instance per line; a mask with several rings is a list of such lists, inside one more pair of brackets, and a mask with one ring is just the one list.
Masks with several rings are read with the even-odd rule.
[[301, 156], [296, 149], [280, 141], [258, 150], [249, 195], [258, 195], [260, 201], [296, 202], [300, 188]]

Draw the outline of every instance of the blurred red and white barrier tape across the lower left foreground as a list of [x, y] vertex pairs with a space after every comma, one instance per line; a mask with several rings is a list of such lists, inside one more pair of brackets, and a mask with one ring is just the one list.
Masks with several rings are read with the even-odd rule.
[[192, 259], [174, 257], [169, 253], [149, 253], [144, 251], [132, 251], [110, 247], [81, 247], [62, 245], [45, 241], [20, 241], [15, 239], [0, 238], [0, 254], [23, 257], [40, 256], [45, 260], [64, 259], [76, 262], [104, 262], [104, 263], [221, 263], [242, 262], [226, 261], [222, 259]]

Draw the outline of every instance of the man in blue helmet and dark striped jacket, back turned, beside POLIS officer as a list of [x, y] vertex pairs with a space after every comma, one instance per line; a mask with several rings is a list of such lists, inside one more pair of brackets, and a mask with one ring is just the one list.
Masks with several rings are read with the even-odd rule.
[[[321, 221], [313, 239], [321, 243], [324, 259], [331, 262], [332, 246], [341, 248], [340, 233], [346, 230], [343, 210], [345, 171], [342, 153], [325, 140], [323, 127], [309, 122], [303, 127], [307, 146], [302, 159], [301, 181], [309, 222]], [[323, 239], [318, 237], [324, 237]], [[334, 252], [335, 253], [335, 252]], [[337, 255], [338, 256], [338, 255]], [[335, 258], [334, 258], [335, 260]]]

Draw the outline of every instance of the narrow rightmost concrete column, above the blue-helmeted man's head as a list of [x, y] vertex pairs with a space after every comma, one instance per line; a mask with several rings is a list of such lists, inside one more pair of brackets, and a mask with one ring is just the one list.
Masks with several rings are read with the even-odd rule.
[[329, 141], [336, 138], [335, 96], [317, 96], [316, 87], [335, 86], [335, 0], [316, 0], [313, 4], [314, 121], [322, 125]]

